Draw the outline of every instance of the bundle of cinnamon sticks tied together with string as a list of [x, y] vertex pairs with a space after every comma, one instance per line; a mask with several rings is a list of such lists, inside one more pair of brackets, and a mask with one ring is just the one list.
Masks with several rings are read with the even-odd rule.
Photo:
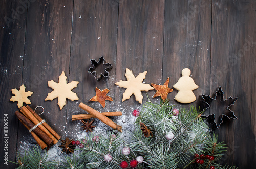
[[28, 105], [15, 112], [20, 122], [30, 131], [41, 149], [49, 149], [56, 144], [60, 136]]

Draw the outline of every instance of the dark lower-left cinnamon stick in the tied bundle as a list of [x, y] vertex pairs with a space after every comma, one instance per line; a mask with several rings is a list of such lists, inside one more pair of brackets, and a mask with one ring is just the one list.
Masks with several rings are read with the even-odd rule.
[[[18, 117], [18, 119], [23, 122], [25, 125], [28, 126], [29, 129], [33, 128], [35, 126], [35, 124], [33, 122], [31, 122], [27, 117], [25, 117], [22, 113], [20, 113], [19, 111], [15, 111], [15, 115]], [[36, 127], [33, 132], [38, 135], [42, 140], [44, 140], [44, 142], [48, 145], [51, 146], [53, 143], [53, 140], [46, 135], [45, 132], [43, 132], [41, 129], [39, 129], [38, 127]]]

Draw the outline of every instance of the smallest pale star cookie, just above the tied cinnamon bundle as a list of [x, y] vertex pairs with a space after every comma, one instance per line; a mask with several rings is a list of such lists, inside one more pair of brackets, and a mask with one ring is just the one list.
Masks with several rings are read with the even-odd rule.
[[12, 94], [15, 94], [15, 96], [12, 96], [10, 101], [18, 101], [18, 108], [23, 106], [23, 102], [26, 104], [31, 104], [30, 100], [28, 99], [28, 96], [31, 96], [33, 92], [31, 91], [25, 91], [26, 87], [24, 84], [19, 87], [19, 90], [12, 89]]

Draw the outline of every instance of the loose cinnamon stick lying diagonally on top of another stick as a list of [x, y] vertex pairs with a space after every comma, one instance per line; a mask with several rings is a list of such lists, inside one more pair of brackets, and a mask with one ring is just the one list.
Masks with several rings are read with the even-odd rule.
[[97, 110], [94, 110], [93, 108], [80, 103], [79, 107], [85, 111], [87, 111], [88, 113], [92, 114], [93, 116], [95, 116], [96, 118], [98, 118], [99, 120], [101, 120], [101, 122], [105, 123], [106, 125], [112, 127], [113, 129], [116, 129], [117, 131], [122, 132], [122, 126], [117, 125], [116, 123], [114, 123], [111, 119], [109, 119], [108, 117], [104, 116], [103, 114], [101, 114], [100, 112], [98, 112]]

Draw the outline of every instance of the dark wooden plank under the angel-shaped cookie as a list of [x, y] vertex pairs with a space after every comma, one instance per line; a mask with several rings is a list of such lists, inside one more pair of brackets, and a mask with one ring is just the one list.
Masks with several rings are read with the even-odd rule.
[[166, 1], [164, 26], [163, 82], [177, 83], [184, 68], [199, 86], [194, 90], [197, 100], [180, 104], [174, 100], [178, 90], [168, 95], [170, 103], [189, 108], [201, 104], [201, 94], [210, 89], [211, 1]]

